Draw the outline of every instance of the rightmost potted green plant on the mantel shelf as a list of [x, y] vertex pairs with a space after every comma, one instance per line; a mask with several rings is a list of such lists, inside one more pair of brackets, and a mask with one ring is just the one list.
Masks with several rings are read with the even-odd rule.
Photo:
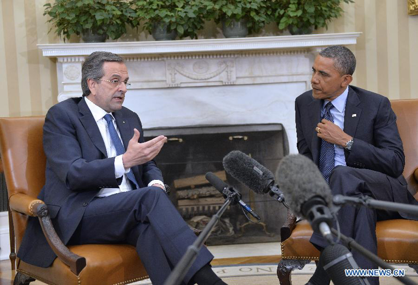
[[288, 28], [291, 34], [309, 34], [313, 28], [325, 27], [333, 18], [341, 16], [342, 2], [352, 0], [272, 0], [274, 20], [279, 29]]

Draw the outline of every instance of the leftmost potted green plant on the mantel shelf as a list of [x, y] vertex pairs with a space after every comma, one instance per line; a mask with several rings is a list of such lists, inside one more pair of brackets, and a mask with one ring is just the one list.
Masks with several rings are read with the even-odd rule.
[[[125, 0], [55, 0], [53, 5], [44, 6], [44, 16], [51, 17], [48, 22], [55, 26], [58, 36], [64, 36], [64, 41], [72, 34], [81, 34], [85, 42], [118, 39], [135, 15]], [[92, 35], [92, 39], [87, 35]]]

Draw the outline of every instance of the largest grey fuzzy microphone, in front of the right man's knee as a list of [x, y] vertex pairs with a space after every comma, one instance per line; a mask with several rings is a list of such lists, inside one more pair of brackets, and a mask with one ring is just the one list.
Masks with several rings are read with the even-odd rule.
[[299, 154], [288, 155], [281, 159], [278, 172], [280, 187], [292, 212], [306, 218], [314, 232], [333, 243], [331, 190], [313, 161]]

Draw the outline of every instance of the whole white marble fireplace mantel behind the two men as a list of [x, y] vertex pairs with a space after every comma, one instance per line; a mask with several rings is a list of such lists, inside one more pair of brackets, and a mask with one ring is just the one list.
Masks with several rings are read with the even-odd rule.
[[310, 89], [323, 47], [356, 44], [360, 32], [152, 42], [38, 45], [57, 59], [58, 100], [81, 96], [93, 51], [125, 58], [132, 88], [124, 106], [145, 128], [281, 123], [296, 153], [294, 100]]

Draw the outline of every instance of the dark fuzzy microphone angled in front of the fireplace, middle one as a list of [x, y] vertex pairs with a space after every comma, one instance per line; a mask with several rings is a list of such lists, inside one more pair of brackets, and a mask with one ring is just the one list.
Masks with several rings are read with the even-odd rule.
[[279, 202], [284, 202], [284, 194], [274, 185], [273, 173], [257, 160], [239, 150], [228, 153], [223, 161], [224, 169], [232, 177], [243, 183], [257, 194], [269, 193]]

